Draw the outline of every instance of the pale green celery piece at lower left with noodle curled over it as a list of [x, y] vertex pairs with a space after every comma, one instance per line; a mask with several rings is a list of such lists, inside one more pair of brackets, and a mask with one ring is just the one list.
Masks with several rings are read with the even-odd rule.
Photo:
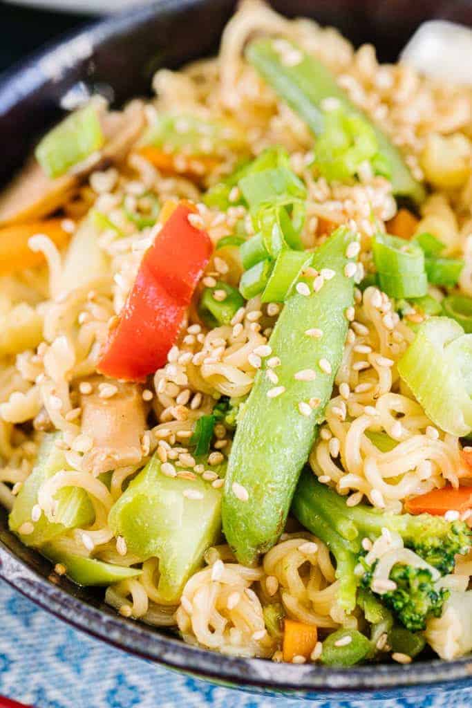
[[21, 534], [23, 524], [32, 523], [31, 513], [33, 506], [38, 503], [40, 486], [60, 470], [70, 469], [64, 452], [56, 446], [58, 439], [57, 433], [45, 435], [43, 438], [33, 472], [21, 487], [8, 518], [11, 530], [17, 533], [27, 546], [39, 547], [67, 529], [87, 526], [93, 522], [95, 516], [92, 503], [84, 489], [64, 487], [54, 497], [57, 500], [54, 521], [47, 519], [42, 513], [40, 519], [33, 524], [33, 533]]

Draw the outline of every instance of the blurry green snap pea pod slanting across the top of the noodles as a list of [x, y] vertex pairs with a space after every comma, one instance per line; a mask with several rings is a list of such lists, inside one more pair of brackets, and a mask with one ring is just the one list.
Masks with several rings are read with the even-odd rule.
[[[268, 84], [287, 101], [290, 108], [308, 124], [315, 135], [321, 135], [324, 129], [324, 118], [321, 103], [325, 98], [337, 98], [341, 108], [350, 115], [366, 118], [362, 110], [357, 108], [335, 81], [335, 77], [322, 62], [309, 56], [288, 40], [284, 40], [287, 50], [297, 52], [299, 61], [292, 65], [285, 62], [277, 51], [277, 40], [258, 39], [246, 47], [246, 58], [263, 76]], [[379, 151], [388, 163], [391, 172], [393, 193], [409, 197], [415, 202], [422, 202], [425, 190], [413, 178], [401, 153], [393, 142], [376, 125], [372, 124]]]

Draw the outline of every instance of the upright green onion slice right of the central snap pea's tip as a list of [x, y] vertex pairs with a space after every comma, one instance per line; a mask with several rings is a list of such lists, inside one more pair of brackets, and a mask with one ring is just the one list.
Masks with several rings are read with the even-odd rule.
[[425, 256], [418, 244], [376, 234], [372, 253], [379, 285], [387, 295], [397, 299], [426, 295]]

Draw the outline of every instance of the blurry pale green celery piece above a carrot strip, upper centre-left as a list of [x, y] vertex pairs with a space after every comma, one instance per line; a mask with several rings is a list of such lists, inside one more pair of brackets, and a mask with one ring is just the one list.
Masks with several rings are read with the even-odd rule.
[[246, 147], [243, 131], [227, 120], [209, 120], [192, 113], [159, 113], [140, 141], [163, 152], [188, 157], [222, 155]]

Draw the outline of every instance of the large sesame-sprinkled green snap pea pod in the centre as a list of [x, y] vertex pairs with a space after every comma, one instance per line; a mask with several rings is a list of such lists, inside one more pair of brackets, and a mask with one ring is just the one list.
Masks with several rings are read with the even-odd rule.
[[[334, 275], [318, 292], [294, 292], [268, 342], [279, 357], [275, 384], [260, 370], [238, 414], [224, 489], [223, 525], [238, 561], [251, 564], [284, 529], [301, 468], [333, 388], [347, 333], [354, 283], [345, 275], [355, 236], [340, 227], [313, 254]], [[319, 331], [318, 331], [319, 330]], [[297, 377], [296, 377], [297, 375]], [[273, 379], [273, 376], [272, 376]]]

